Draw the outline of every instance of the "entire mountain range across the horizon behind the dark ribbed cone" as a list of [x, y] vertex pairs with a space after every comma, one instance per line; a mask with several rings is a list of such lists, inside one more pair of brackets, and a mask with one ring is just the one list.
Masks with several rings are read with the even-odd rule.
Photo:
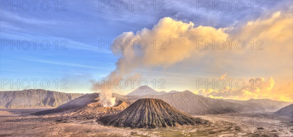
[[[140, 90], [143, 90], [140, 92]], [[37, 92], [38, 91], [38, 92]], [[46, 90], [36, 90], [34, 92], [23, 91], [26, 100], [31, 100], [29, 102], [21, 101], [20, 98], [11, 98], [10, 102], [1, 104], [14, 104], [5, 106], [14, 106], [14, 108], [20, 107], [35, 107], [35, 106], [59, 106], [54, 109], [41, 111], [35, 113], [35, 115], [44, 114], [61, 114], [66, 116], [74, 115], [88, 115], [90, 117], [101, 117], [107, 115], [114, 115], [123, 111], [126, 107], [134, 103], [139, 99], [150, 98], [150, 99], [161, 99], [164, 102], [170, 104], [175, 109], [179, 111], [188, 113], [189, 115], [207, 115], [207, 114], [225, 114], [225, 113], [237, 113], [237, 112], [259, 112], [259, 111], [272, 111], [274, 109], [278, 110], [291, 103], [272, 101], [268, 99], [251, 99], [248, 101], [238, 101], [238, 100], [223, 100], [223, 99], [212, 99], [197, 95], [191, 91], [170, 91], [164, 94], [163, 92], [157, 92], [150, 87], [137, 88], [127, 95], [120, 95], [113, 93], [112, 96], [116, 98], [116, 104], [113, 107], [103, 107], [100, 103], [99, 93], [77, 94], [76, 98], [73, 99], [73, 95], [68, 93], [61, 93], [55, 91]], [[9, 91], [10, 94], [14, 94], [19, 91]], [[44, 93], [43, 93], [44, 92]], [[5, 92], [3, 92], [5, 93]], [[42, 94], [41, 94], [42, 93]], [[5, 98], [7, 99], [8, 93], [5, 93]], [[9, 95], [10, 95], [9, 94]], [[31, 95], [35, 94], [35, 95]], [[49, 94], [49, 95], [43, 95]], [[2, 96], [1, 93], [1, 102]], [[54, 95], [54, 96], [53, 96]], [[56, 96], [59, 95], [59, 96]], [[76, 94], [74, 94], [76, 95]], [[32, 98], [30, 98], [32, 97]], [[68, 97], [68, 98], [66, 98]], [[40, 98], [40, 100], [36, 100]], [[62, 99], [62, 102], [60, 101]], [[21, 102], [21, 103], [18, 103]], [[63, 104], [62, 104], [63, 103]], [[34, 104], [34, 105], [32, 105]], [[9, 108], [9, 107], [8, 107]], [[13, 108], [13, 107], [10, 107]]]

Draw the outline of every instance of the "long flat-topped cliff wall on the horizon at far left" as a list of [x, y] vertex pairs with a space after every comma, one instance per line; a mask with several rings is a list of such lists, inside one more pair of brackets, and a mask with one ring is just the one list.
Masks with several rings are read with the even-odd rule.
[[84, 94], [62, 93], [43, 89], [1, 91], [0, 108], [57, 107]]

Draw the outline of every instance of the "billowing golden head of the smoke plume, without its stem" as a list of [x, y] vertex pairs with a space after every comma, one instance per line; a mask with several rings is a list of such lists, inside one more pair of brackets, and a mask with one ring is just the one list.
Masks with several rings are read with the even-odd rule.
[[[127, 66], [131, 63], [143, 67], [168, 67], [192, 55], [200, 57], [202, 53], [196, 50], [196, 40], [222, 40], [226, 39], [227, 36], [228, 34], [223, 29], [209, 26], [194, 27], [192, 22], [184, 23], [165, 17], [160, 19], [151, 30], [144, 28], [136, 34], [127, 32], [116, 38], [118, 41], [146, 41], [147, 48], [145, 50], [138, 49], [138, 45], [134, 45], [134, 50], [127, 48], [126, 50], [113, 50], [113, 52], [122, 55], [121, 59]], [[155, 49], [152, 45], [154, 41], [157, 45]], [[162, 47], [164, 50], [160, 50], [160, 45], [164, 45]]]

